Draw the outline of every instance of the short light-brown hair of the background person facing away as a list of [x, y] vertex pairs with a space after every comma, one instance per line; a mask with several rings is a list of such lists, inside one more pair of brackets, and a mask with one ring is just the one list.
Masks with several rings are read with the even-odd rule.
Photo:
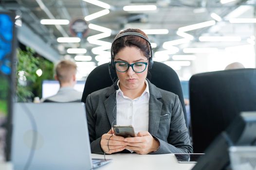
[[57, 79], [61, 83], [70, 82], [72, 76], [76, 74], [76, 64], [71, 60], [62, 60], [55, 67]]

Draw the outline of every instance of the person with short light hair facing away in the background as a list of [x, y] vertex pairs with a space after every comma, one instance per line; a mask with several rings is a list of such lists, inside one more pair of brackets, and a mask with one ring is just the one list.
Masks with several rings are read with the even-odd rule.
[[73, 87], [76, 84], [76, 64], [71, 60], [61, 60], [55, 66], [55, 80], [60, 88], [54, 96], [42, 100], [42, 102], [80, 102], [82, 93]]

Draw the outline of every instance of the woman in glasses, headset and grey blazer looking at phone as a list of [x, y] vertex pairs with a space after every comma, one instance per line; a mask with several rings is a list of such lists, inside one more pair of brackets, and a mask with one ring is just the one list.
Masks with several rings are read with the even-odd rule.
[[[116, 36], [111, 66], [119, 80], [86, 100], [92, 153], [192, 153], [178, 96], [146, 79], [151, 53], [147, 35], [139, 29]], [[133, 125], [137, 135], [115, 136], [113, 124]]]

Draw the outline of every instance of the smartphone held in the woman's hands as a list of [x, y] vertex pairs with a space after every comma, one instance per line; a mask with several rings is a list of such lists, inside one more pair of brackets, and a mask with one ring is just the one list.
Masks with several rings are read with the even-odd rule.
[[132, 125], [114, 125], [113, 129], [116, 136], [135, 137]]

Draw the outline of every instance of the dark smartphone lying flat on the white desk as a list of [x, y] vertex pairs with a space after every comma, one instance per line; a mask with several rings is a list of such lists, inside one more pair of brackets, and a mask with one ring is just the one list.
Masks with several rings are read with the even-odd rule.
[[197, 160], [204, 155], [204, 153], [176, 153], [174, 155], [179, 163], [197, 163]]

